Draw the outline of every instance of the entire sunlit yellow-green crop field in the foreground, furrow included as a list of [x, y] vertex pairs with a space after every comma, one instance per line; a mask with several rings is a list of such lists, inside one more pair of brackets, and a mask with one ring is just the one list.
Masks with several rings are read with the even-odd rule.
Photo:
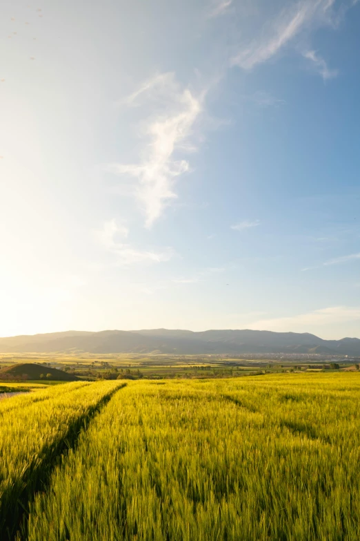
[[342, 373], [3, 401], [0, 538], [360, 539], [359, 399], [360, 374]]

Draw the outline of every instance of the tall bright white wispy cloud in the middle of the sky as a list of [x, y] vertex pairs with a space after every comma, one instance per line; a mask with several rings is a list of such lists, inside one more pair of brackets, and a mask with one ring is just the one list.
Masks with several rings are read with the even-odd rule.
[[137, 179], [135, 194], [150, 227], [177, 194], [174, 183], [190, 170], [187, 160], [177, 159], [184, 151], [195, 151], [192, 140], [194, 124], [202, 111], [205, 93], [195, 95], [190, 88], [181, 88], [173, 73], [156, 75], [142, 84], [126, 100], [138, 103], [139, 98], [152, 100], [152, 110], [159, 111], [148, 117], [143, 125], [148, 144], [138, 164], [110, 164], [108, 171], [117, 175], [130, 175]]

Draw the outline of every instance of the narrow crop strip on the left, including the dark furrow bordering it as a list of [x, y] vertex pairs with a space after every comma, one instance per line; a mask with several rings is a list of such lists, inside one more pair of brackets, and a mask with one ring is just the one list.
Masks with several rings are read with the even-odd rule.
[[13, 538], [59, 455], [74, 445], [81, 428], [120, 387], [110, 381], [68, 383], [8, 401], [10, 407], [0, 416], [1, 540]]

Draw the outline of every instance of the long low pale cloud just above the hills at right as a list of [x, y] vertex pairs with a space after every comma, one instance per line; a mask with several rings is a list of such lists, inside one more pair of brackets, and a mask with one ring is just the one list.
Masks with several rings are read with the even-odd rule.
[[289, 331], [300, 327], [310, 328], [312, 325], [328, 325], [330, 323], [341, 323], [358, 319], [360, 319], [360, 307], [333, 306], [296, 316], [260, 319], [252, 323], [250, 328], [255, 330]]

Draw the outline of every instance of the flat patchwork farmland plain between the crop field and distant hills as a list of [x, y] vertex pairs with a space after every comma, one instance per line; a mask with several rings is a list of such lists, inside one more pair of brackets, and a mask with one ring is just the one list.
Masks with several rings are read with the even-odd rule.
[[[253, 358], [254, 357], [254, 358]], [[43, 372], [43, 378], [34, 378], [32, 364]], [[97, 379], [219, 379], [259, 374], [283, 374], [289, 372], [355, 371], [360, 368], [359, 358], [321, 356], [317, 354], [250, 355], [229, 357], [223, 355], [141, 355], [141, 354], [2, 354], [0, 357], [0, 381], [2, 370], [26, 372], [32, 383], [57, 383], [48, 378], [53, 369], [67, 372], [75, 378], [95, 381]], [[28, 368], [27, 368], [28, 367]], [[7, 374], [9, 375], [9, 374]], [[41, 375], [41, 374], [40, 374]], [[65, 378], [64, 378], [65, 379]], [[7, 381], [9, 379], [7, 378]], [[4, 381], [5, 383], [5, 381]]]

